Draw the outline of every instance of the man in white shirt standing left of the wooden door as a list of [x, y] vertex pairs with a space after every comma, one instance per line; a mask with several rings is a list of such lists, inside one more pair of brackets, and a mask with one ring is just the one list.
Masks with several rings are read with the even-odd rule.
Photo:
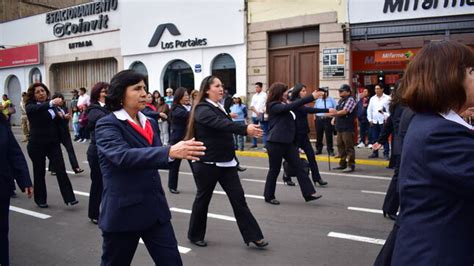
[[[252, 122], [254, 124], [259, 124], [263, 130], [263, 149], [265, 149], [265, 144], [267, 143], [267, 131], [268, 131], [268, 120], [265, 115], [265, 104], [267, 102], [267, 94], [262, 90], [262, 82], [255, 83], [255, 94], [252, 96], [252, 101], [250, 103], [250, 111], [252, 111]], [[253, 138], [251, 148], [257, 148], [257, 138]]]

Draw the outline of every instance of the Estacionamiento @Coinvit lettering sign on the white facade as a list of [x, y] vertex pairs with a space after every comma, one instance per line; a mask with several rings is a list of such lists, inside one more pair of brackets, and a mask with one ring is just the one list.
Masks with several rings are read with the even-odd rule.
[[[79, 33], [107, 29], [107, 12], [118, 8], [118, 0], [101, 0], [84, 5], [65, 8], [46, 14], [46, 24], [54, 24], [53, 34], [60, 38]], [[98, 15], [98, 16], [97, 16]], [[89, 17], [95, 16], [91, 19]], [[76, 22], [69, 20], [79, 19]]]

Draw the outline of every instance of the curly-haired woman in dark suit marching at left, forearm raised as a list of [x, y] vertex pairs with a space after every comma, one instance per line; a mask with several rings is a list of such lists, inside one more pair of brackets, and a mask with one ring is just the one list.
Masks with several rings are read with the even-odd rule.
[[49, 90], [43, 83], [32, 84], [27, 91], [26, 114], [30, 122], [30, 141], [28, 155], [33, 162], [33, 180], [35, 185], [35, 202], [40, 208], [48, 208], [46, 203], [46, 157], [56, 170], [59, 189], [66, 205], [78, 203], [72, 190], [71, 181], [66, 173], [63, 154], [60, 147], [59, 127], [61, 118], [56, 109], [63, 100], [49, 100]]

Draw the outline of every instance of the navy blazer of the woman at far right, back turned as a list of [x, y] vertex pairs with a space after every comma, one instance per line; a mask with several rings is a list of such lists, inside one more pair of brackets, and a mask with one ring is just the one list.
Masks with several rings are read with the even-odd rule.
[[416, 114], [403, 142], [392, 265], [474, 264], [474, 132]]

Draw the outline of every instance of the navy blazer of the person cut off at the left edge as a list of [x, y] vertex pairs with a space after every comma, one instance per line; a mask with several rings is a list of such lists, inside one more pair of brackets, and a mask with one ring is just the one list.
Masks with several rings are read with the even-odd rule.
[[0, 198], [9, 198], [16, 180], [21, 191], [31, 187], [25, 156], [5, 119], [0, 117]]

